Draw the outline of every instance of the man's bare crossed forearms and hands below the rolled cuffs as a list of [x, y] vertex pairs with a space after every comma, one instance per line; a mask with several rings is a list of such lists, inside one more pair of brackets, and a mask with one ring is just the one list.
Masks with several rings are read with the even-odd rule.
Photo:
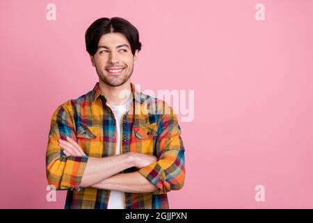
[[[70, 137], [66, 137], [66, 139], [66, 141], [59, 139], [59, 144], [65, 155], [86, 156], [76, 141]], [[146, 167], [152, 162], [157, 162], [157, 157], [141, 153], [126, 153], [104, 158], [89, 157], [80, 187], [95, 187], [132, 193], [154, 192], [158, 190], [158, 187], [150, 183], [138, 171], [118, 174], [130, 167]]]

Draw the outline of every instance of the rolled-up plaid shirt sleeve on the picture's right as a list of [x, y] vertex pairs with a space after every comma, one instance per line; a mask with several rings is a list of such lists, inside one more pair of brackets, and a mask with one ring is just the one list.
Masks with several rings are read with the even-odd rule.
[[170, 190], [180, 190], [184, 185], [184, 144], [180, 134], [177, 116], [170, 107], [170, 114], [163, 115], [159, 123], [156, 143], [159, 160], [138, 170], [159, 188], [152, 194], [166, 194]]

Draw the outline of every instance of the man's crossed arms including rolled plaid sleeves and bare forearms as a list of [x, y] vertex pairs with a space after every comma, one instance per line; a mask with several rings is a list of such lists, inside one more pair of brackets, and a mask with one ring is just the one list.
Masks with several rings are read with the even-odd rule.
[[[175, 115], [163, 115], [160, 121], [162, 129], [157, 139], [157, 157], [141, 153], [88, 157], [74, 140], [74, 118], [69, 103], [58, 107], [51, 118], [46, 153], [49, 185], [56, 190], [95, 187], [153, 194], [164, 194], [183, 187], [184, 146]], [[136, 167], [138, 171], [119, 174], [130, 167]]]

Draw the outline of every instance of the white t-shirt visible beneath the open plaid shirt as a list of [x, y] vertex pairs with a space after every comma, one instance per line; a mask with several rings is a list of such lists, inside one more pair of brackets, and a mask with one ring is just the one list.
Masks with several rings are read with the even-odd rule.
[[[128, 112], [131, 109], [133, 99], [129, 100], [125, 103], [125, 105], [110, 105], [109, 103], [106, 103], [109, 107], [111, 107], [112, 112], [115, 116], [116, 121], [116, 149], [115, 149], [115, 155], [120, 154], [120, 122], [122, 121], [122, 115]], [[108, 209], [124, 209], [124, 192], [119, 192], [115, 190], [111, 190], [110, 197], [109, 197], [109, 203], [108, 203]]]

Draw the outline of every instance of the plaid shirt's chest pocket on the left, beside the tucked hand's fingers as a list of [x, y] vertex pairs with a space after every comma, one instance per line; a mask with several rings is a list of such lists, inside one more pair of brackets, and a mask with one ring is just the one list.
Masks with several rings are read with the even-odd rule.
[[81, 146], [86, 155], [91, 157], [102, 157], [99, 126], [78, 125], [76, 137], [77, 143]]

